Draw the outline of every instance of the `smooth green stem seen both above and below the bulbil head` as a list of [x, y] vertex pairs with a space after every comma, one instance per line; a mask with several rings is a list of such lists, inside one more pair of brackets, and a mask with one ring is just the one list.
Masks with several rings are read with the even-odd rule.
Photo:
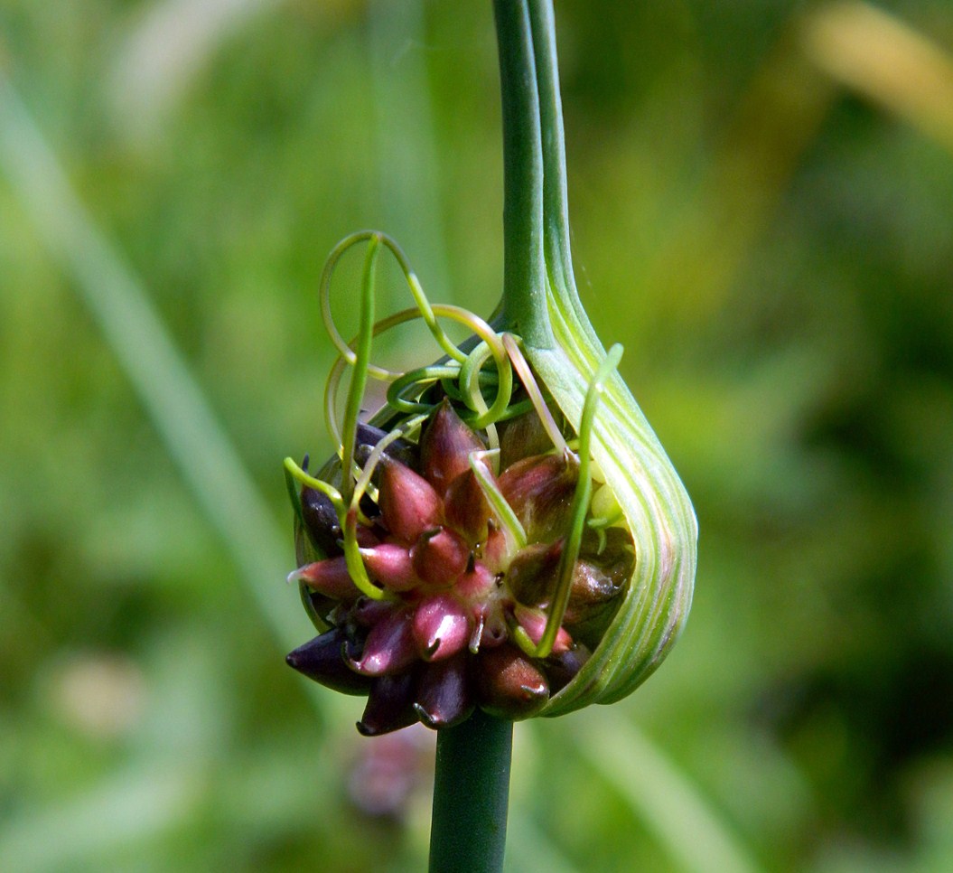
[[[547, 348], [554, 342], [546, 300], [547, 248], [557, 255], [554, 266], [560, 273], [568, 255], [562, 235], [565, 169], [553, 8], [551, 0], [494, 0], [494, 12], [504, 167], [503, 297], [495, 321]], [[543, 186], [547, 169], [548, 193]], [[559, 285], [575, 297], [574, 285]], [[576, 300], [565, 302], [574, 308]], [[479, 709], [468, 721], [438, 733], [431, 873], [502, 869], [512, 746], [513, 723]]]

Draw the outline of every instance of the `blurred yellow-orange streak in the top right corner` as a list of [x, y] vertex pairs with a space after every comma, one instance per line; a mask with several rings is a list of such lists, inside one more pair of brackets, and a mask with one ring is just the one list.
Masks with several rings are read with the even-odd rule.
[[866, 3], [841, 2], [808, 16], [803, 50], [842, 86], [895, 112], [953, 152], [953, 56]]

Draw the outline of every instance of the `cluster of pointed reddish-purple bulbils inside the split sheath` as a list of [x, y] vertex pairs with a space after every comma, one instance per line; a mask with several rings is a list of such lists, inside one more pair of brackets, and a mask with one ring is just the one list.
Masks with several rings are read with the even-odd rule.
[[[497, 476], [481, 459], [484, 439], [446, 399], [417, 443], [395, 440], [380, 456], [376, 499], [361, 502], [357, 543], [381, 599], [352, 580], [331, 500], [301, 490], [300, 533], [314, 552], [299, 548], [302, 565], [289, 578], [328, 629], [288, 663], [337, 691], [366, 694], [357, 722], [366, 736], [416, 721], [453, 726], [476, 706], [514, 721], [535, 715], [576, 675], [621, 601], [635, 561], [632, 537], [622, 526], [587, 526], [556, 639], [546, 657], [534, 657], [569, 532], [578, 460], [553, 450], [535, 413], [497, 428]], [[355, 457], [365, 462], [383, 436], [359, 426]], [[518, 519], [518, 541], [487, 499], [476, 464]], [[325, 557], [306, 562], [314, 553]]]

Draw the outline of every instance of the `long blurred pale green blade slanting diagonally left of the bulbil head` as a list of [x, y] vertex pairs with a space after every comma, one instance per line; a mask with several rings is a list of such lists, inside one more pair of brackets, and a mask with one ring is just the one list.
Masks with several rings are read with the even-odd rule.
[[287, 556], [274, 517], [142, 283], [96, 228], [2, 71], [0, 171], [52, 257], [71, 275], [275, 638], [294, 648], [303, 617], [296, 595], [278, 584]]

